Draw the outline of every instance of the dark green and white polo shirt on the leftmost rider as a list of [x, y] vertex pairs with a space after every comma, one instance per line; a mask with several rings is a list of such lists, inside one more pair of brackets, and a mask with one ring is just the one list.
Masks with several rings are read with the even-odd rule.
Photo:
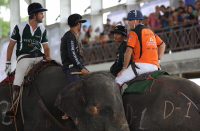
[[17, 57], [23, 54], [42, 53], [41, 44], [48, 43], [44, 25], [39, 23], [38, 27], [33, 31], [29, 20], [15, 26], [11, 40], [17, 42]]

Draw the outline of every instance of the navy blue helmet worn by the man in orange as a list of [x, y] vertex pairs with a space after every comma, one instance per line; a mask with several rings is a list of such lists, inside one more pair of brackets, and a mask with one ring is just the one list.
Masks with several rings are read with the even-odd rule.
[[125, 20], [143, 20], [144, 17], [139, 10], [131, 10]]

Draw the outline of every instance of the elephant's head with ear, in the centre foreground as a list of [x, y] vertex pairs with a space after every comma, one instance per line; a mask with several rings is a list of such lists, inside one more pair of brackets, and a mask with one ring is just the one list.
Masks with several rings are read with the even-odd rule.
[[55, 105], [81, 131], [129, 131], [119, 88], [107, 73], [93, 73], [69, 84]]

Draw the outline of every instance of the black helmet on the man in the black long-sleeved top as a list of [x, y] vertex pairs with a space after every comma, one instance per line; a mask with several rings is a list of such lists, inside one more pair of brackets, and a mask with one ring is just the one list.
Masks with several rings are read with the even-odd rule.
[[79, 14], [72, 14], [68, 17], [68, 25], [70, 27], [76, 25], [78, 22], [85, 23], [86, 20], [82, 20], [82, 16]]

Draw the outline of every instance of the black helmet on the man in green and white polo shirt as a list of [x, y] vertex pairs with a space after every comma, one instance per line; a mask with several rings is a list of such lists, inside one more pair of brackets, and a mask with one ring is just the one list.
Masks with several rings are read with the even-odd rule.
[[31, 3], [28, 6], [28, 15], [35, 14], [38, 12], [43, 12], [43, 11], [47, 11], [47, 9], [44, 9], [40, 3]]

